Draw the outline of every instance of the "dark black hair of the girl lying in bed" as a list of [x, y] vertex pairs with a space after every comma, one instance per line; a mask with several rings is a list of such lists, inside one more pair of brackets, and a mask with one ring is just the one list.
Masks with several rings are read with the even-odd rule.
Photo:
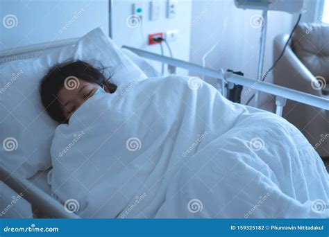
[[94, 82], [107, 87], [110, 93], [114, 93], [117, 86], [109, 81], [110, 78], [103, 75], [104, 70], [104, 67], [96, 69], [91, 64], [81, 60], [63, 62], [49, 69], [40, 82], [40, 96], [42, 105], [44, 105], [51, 119], [58, 123], [68, 123], [58, 101], [58, 92], [64, 86], [66, 78], [75, 77], [78, 80]]

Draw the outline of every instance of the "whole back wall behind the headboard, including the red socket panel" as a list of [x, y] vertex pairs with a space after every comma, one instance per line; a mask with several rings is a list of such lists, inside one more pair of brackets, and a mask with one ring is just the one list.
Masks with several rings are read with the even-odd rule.
[[[81, 1], [20, 1], [0, 0], [0, 17], [8, 14], [17, 17], [17, 26], [6, 28], [0, 26], [0, 50], [28, 44], [38, 44], [53, 40], [81, 37], [96, 27], [101, 27], [112, 39], [122, 46], [124, 44], [160, 53], [158, 44], [149, 46], [148, 35], [178, 30], [178, 37], [169, 42], [175, 58], [189, 60], [190, 24], [192, 0], [177, 1], [176, 16], [167, 18], [167, 1], [159, 0], [160, 14], [151, 21], [150, 1], [115, 0], [112, 1], [112, 15], [109, 0]], [[133, 12], [133, 3], [140, 3], [143, 8], [142, 24], [131, 27], [127, 23]], [[165, 47], [165, 46], [164, 46]], [[169, 55], [165, 47], [165, 55]], [[160, 71], [160, 63], [151, 62]], [[187, 71], [178, 70], [178, 73]]]

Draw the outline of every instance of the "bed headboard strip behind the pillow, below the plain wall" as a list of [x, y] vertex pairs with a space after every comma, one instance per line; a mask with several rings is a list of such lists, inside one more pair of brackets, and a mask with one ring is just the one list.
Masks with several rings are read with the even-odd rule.
[[22, 46], [12, 49], [0, 51], [0, 64], [5, 62], [12, 62], [15, 60], [24, 60], [28, 58], [37, 58], [44, 53], [49, 53], [53, 49], [57, 49], [63, 46], [74, 46], [78, 41], [78, 38], [57, 40], [53, 42], [46, 42], [42, 44], [31, 44], [28, 46]]

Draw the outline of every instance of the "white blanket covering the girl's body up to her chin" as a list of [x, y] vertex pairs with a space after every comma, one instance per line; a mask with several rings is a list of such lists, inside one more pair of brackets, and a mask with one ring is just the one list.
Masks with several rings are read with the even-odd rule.
[[169, 76], [93, 96], [60, 125], [53, 192], [83, 218], [328, 218], [328, 174], [293, 125]]

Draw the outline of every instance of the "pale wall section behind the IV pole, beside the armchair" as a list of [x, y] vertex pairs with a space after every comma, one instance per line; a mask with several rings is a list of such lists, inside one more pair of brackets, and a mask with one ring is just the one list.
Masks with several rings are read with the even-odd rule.
[[[206, 67], [233, 69], [242, 71], [249, 78], [257, 78], [261, 28], [253, 24], [253, 17], [262, 15], [262, 12], [238, 9], [233, 1], [195, 1], [192, 16], [202, 10], [208, 14], [203, 15], [192, 27], [191, 61], [202, 64], [203, 56], [208, 53], [205, 58]], [[274, 37], [291, 30], [292, 15], [269, 12], [268, 26], [264, 69], [268, 69], [273, 62]], [[214, 80], [209, 81], [215, 83]], [[271, 75], [267, 81], [271, 81]], [[242, 93], [243, 102], [251, 94]], [[268, 97], [265, 100], [263, 98], [262, 103], [267, 100]]]

